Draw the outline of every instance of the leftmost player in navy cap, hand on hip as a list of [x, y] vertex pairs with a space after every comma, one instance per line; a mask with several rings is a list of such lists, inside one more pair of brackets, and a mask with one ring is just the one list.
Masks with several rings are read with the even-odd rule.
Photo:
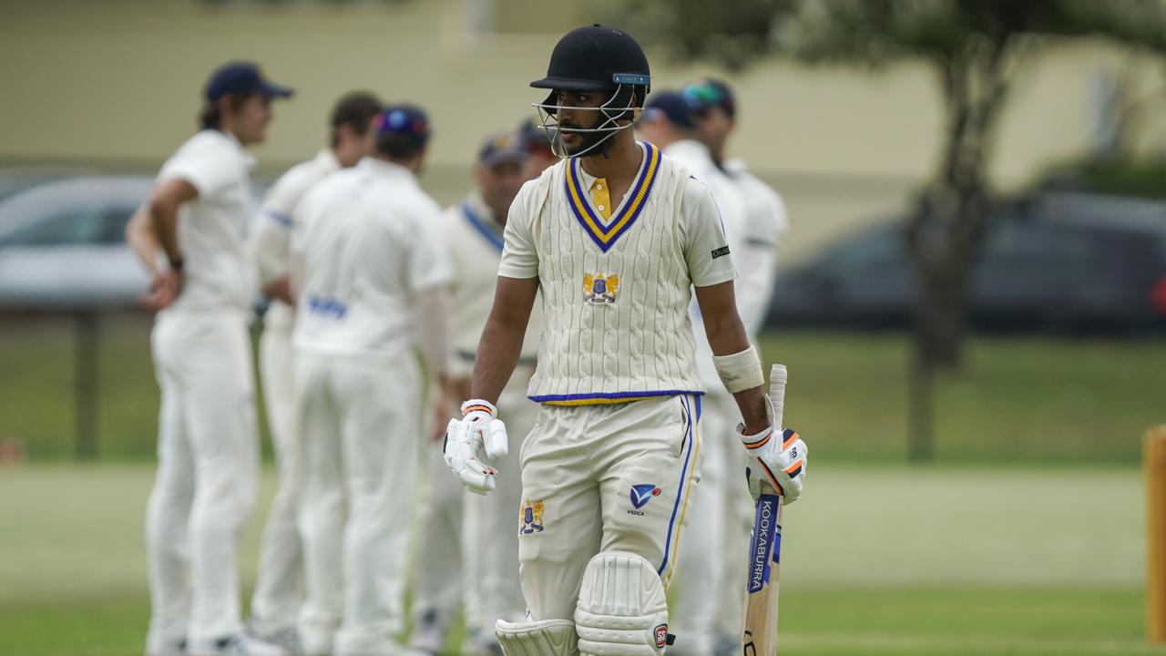
[[272, 98], [290, 95], [252, 63], [216, 70], [202, 130], [162, 165], [126, 229], [154, 278], [145, 301], [160, 310], [150, 337], [162, 407], [146, 514], [147, 654], [282, 652], [240, 630], [236, 551], [259, 474], [247, 330], [258, 280], [244, 243], [254, 160], [244, 148], [264, 141]]

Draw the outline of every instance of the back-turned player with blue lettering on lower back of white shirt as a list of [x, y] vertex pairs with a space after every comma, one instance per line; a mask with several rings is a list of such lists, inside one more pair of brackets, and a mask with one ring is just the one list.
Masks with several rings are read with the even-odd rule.
[[[412, 105], [374, 120], [375, 155], [321, 181], [294, 215], [309, 655], [409, 652], [395, 635], [422, 427], [415, 348], [447, 384], [450, 268], [441, 208], [416, 179], [429, 125]], [[438, 395], [438, 411], [447, 403]]]

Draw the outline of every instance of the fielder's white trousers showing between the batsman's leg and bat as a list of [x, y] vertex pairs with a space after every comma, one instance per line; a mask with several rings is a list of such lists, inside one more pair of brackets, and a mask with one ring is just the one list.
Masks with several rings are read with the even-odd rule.
[[735, 438], [740, 410], [719, 388], [704, 396], [701, 494], [688, 512], [669, 623], [669, 652], [711, 656], [716, 636], [744, 626], [745, 574], [753, 501], [745, 483], [745, 449]]

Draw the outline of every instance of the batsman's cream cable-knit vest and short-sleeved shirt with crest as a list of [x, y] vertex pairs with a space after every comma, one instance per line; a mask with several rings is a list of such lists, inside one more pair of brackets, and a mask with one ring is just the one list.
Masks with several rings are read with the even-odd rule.
[[[623, 403], [701, 393], [691, 287], [736, 277], [708, 187], [651, 144], [604, 217], [577, 159], [527, 182], [511, 205], [499, 275], [539, 278], [542, 340], [529, 397]], [[612, 202], [616, 202], [613, 198]]]

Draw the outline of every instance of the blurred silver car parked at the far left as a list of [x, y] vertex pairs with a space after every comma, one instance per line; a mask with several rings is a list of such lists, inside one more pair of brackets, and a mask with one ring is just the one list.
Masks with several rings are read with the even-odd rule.
[[85, 176], [0, 201], [0, 306], [132, 306], [149, 285], [126, 245], [148, 176]]

